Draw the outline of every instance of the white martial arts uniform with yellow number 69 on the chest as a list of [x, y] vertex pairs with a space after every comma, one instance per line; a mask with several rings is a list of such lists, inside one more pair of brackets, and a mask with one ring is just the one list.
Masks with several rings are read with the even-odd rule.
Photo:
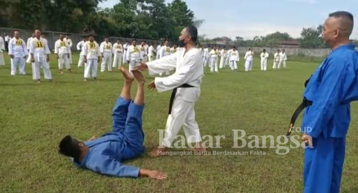
[[25, 75], [25, 57], [28, 55], [25, 41], [21, 38], [12, 38], [8, 45], [8, 55], [13, 55], [11, 61], [11, 75], [16, 75], [16, 68], [19, 68], [19, 74]]

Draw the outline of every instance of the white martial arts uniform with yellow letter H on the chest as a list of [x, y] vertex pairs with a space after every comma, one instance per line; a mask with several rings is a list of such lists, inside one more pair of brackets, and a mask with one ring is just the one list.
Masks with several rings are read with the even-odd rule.
[[33, 58], [35, 61], [32, 63], [32, 79], [41, 79], [40, 67], [42, 67], [45, 79], [52, 80], [50, 65], [47, 62], [47, 54], [51, 54], [47, 40], [42, 37], [40, 39], [33, 38], [30, 43], [30, 54], [32, 54], [31, 59]]

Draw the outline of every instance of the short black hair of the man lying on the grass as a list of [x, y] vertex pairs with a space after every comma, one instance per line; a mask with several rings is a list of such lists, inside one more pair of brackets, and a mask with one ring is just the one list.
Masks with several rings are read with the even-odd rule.
[[78, 160], [81, 156], [81, 148], [79, 143], [79, 141], [73, 139], [70, 135], [67, 135], [61, 140], [59, 144], [59, 153]]

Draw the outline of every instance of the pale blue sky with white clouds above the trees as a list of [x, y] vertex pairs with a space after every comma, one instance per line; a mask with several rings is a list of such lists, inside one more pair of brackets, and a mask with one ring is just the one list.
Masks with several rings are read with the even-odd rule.
[[[166, 0], [171, 2], [172, 0]], [[112, 7], [119, 0], [107, 0], [100, 7]], [[358, 21], [358, 0], [185, 0], [195, 17], [204, 19], [198, 33], [207, 37], [267, 35], [280, 31], [299, 37], [302, 27], [322, 24], [328, 14], [350, 11]], [[358, 22], [354, 39], [358, 39]]]

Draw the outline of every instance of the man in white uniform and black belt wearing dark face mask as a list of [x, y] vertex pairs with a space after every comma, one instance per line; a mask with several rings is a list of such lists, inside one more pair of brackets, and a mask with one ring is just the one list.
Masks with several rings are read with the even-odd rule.
[[151, 76], [176, 69], [168, 77], [156, 77], [148, 88], [157, 89], [158, 92], [173, 90], [169, 105], [169, 116], [166, 124], [165, 138], [159, 147], [150, 155], [153, 157], [163, 155], [167, 148], [172, 147], [179, 129], [183, 127], [189, 147], [195, 143], [194, 151], [206, 151], [199, 142], [201, 136], [195, 121], [194, 104], [200, 96], [201, 78], [204, 75], [200, 50], [195, 47], [197, 29], [189, 25], [182, 29], [179, 36], [178, 52], [152, 62], [140, 63], [139, 70], [148, 69]]

